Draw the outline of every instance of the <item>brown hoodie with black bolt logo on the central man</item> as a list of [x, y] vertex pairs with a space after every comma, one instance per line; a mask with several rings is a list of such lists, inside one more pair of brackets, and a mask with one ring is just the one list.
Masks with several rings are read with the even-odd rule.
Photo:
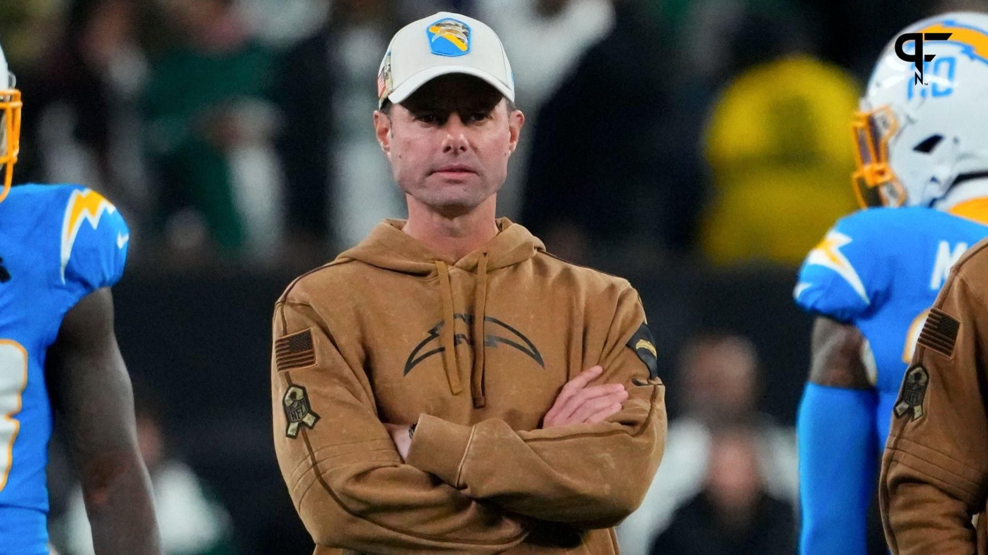
[[[275, 307], [275, 447], [316, 553], [617, 553], [610, 527], [641, 502], [666, 433], [638, 293], [504, 218], [459, 261], [402, 225], [378, 224]], [[622, 410], [539, 429], [598, 363], [596, 383], [627, 388]], [[381, 423], [417, 423], [406, 461]]]

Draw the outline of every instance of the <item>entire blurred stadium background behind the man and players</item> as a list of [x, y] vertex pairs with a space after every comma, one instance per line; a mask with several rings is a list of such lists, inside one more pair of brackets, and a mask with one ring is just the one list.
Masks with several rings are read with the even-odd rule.
[[[528, 119], [499, 213], [564, 259], [632, 278], [665, 347], [666, 455], [619, 530], [622, 548], [784, 554], [798, 523], [790, 425], [807, 366], [782, 344], [808, 349], [808, 316], [753, 310], [724, 329], [717, 315], [730, 308], [714, 299], [784, 302], [802, 257], [857, 207], [850, 120], [878, 52], [922, 17], [979, 4], [18, 0], [0, 3], [0, 43], [24, 93], [16, 182], [85, 184], [131, 228], [118, 317], [135, 325], [119, 332], [146, 386], [140, 443], [170, 554], [311, 548], [284, 492], [262, 493], [284, 490], [264, 388], [270, 308], [289, 278], [403, 217], [372, 133], [375, 78], [391, 35], [440, 10], [488, 23], [512, 61]], [[223, 286], [246, 290], [217, 300]], [[704, 286], [720, 295], [689, 292]], [[152, 291], [174, 296], [152, 310]], [[241, 335], [195, 337], [176, 312], [227, 301], [220, 309], [237, 315], [226, 320], [268, 315]], [[773, 320], [797, 323], [773, 338]], [[262, 355], [217, 362], [172, 346], [162, 349], [192, 361], [161, 362], [141, 339], [183, 333], [203, 350]], [[179, 375], [196, 383], [156, 364], [191, 366]], [[241, 374], [258, 391], [209, 404]], [[182, 390], [203, 401], [182, 405]], [[52, 452], [53, 541], [91, 552], [57, 441]]]

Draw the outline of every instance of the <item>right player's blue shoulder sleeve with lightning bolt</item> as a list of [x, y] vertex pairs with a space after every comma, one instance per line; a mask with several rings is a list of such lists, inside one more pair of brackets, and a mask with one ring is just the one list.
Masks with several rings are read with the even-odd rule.
[[802, 309], [852, 322], [886, 289], [885, 257], [902, 208], [868, 208], [837, 221], [806, 255], [792, 296]]

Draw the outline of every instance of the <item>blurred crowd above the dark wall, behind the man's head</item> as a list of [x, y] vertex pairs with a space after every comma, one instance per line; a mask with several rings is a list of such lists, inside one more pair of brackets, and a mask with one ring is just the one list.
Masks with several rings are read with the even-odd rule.
[[305, 267], [400, 216], [374, 78], [397, 29], [449, 9], [500, 34], [528, 116], [503, 215], [575, 262], [792, 265], [855, 207], [848, 120], [876, 53], [947, 7], [24, 0], [0, 38], [27, 105], [19, 180], [113, 198], [137, 259]]

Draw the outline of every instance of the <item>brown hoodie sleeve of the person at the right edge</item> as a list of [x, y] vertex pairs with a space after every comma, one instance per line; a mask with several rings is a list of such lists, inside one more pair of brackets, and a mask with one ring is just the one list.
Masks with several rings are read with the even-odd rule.
[[988, 553], [986, 384], [988, 239], [953, 265], [892, 411], [878, 501], [894, 555]]

